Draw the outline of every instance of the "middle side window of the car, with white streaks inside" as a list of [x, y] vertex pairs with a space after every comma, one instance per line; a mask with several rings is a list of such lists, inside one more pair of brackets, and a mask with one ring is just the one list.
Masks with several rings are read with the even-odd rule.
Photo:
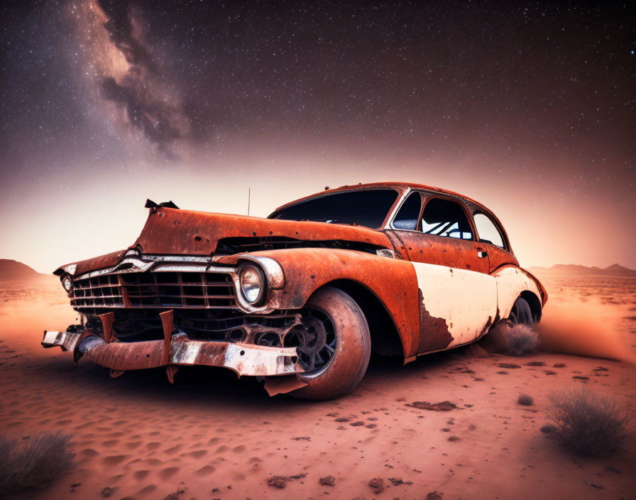
[[432, 198], [422, 212], [422, 232], [447, 238], [473, 239], [466, 212], [453, 200]]

